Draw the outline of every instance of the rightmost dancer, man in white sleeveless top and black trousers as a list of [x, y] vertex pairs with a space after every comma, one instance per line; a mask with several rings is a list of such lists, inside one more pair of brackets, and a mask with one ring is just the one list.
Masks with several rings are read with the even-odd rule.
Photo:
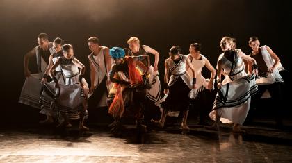
[[[277, 67], [279, 66], [279, 57], [270, 49], [269, 46], [260, 46], [258, 37], [250, 37], [248, 42], [252, 53], [250, 57], [257, 61], [259, 67], [259, 78], [257, 78], [257, 84], [259, 91], [252, 98], [253, 108], [259, 107], [259, 100], [263, 94], [268, 91], [268, 94], [272, 98], [272, 105], [275, 110], [276, 126], [282, 127], [282, 114], [284, 108], [284, 81]], [[249, 64], [249, 69], [252, 69], [252, 64]], [[256, 106], [257, 105], [257, 106]], [[252, 116], [252, 114], [249, 114]]]

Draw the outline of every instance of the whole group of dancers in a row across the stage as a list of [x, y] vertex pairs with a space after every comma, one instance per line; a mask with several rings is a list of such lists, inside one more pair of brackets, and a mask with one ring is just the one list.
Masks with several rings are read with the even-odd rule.
[[[154, 126], [163, 128], [168, 112], [176, 110], [183, 114], [181, 128], [189, 130], [188, 110], [199, 110], [193, 101], [205, 90], [212, 91], [215, 83], [218, 92], [209, 113], [215, 122], [206, 127], [210, 130], [219, 130], [221, 121], [234, 123], [233, 131], [243, 132], [239, 126], [248, 116], [251, 101], [257, 103], [266, 90], [277, 103], [282, 100], [283, 80], [279, 71], [284, 68], [268, 46], [259, 46], [257, 37], [250, 38], [250, 55], [236, 49], [236, 40], [223, 37], [220, 41], [223, 53], [219, 55], [217, 71], [201, 54], [201, 44], [190, 44], [188, 55], [181, 54], [180, 46], [172, 46], [164, 63], [164, 98], [161, 98], [159, 81], [159, 53], [149, 46], [141, 46], [138, 37], [131, 37], [127, 43], [129, 48], [108, 49], [101, 46], [97, 37], [88, 38], [92, 52], [88, 55], [88, 87], [83, 78], [86, 67], [74, 57], [73, 46], [64, 44], [58, 37], [49, 42], [48, 35], [40, 33], [39, 45], [24, 55], [26, 80], [19, 103], [39, 108], [40, 113], [47, 116], [40, 123], [53, 123], [56, 119], [58, 127], [70, 128], [70, 120], [79, 119], [80, 130], [89, 130], [84, 126], [88, 108], [108, 107], [113, 117], [111, 132], [117, 134], [127, 111], [135, 114], [137, 129], [146, 130], [143, 117], [147, 112], [145, 106], [149, 106], [147, 103], [155, 103], [162, 110], [161, 119], [151, 120]], [[153, 66], [148, 53], [155, 56]], [[29, 69], [31, 58], [36, 59], [32, 73]], [[210, 78], [202, 76], [203, 67], [211, 71]], [[252, 99], [254, 94], [257, 98]]]

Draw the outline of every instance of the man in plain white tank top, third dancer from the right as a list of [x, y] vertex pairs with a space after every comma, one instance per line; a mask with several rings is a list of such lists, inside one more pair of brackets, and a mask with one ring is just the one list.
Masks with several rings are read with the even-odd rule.
[[[198, 88], [197, 93], [202, 92], [200, 93], [201, 96], [190, 101], [190, 109], [193, 108], [194, 110], [196, 110], [199, 124], [206, 124], [206, 119], [209, 117], [208, 114], [211, 111], [211, 108], [213, 106], [213, 105], [210, 105], [210, 108], [208, 109], [206, 98], [210, 98], [210, 96], [212, 96], [210, 92], [211, 92], [211, 89], [213, 88], [213, 79], [215, 78], [216, 70], [210, 64], [209, 60], [200, 53], [201, 44], [199, 43], [190, 44], [189, 50], [190, 50], [190, 53], [187, 55], [187, 57], [188, 59], [190, 59], [190, 63], [193, 65], [196, 76], [197, 76], [197, 88]], [[204, 78], [204, 76], [202, 76], [202, 68], [205, 66], [207, 67], [207, 69], [209, 69], [209, 71], [211, 71], [211, 77], [209, 79], [209, 82], [208, 80]], [[188, 67], [187, 67], [187, 71], [188, 71], [188, 74], [191, 74], [191, 70], [188, 69]], [[206, 91], [205, 89], [208, 89], [208, 91]], [[199, 101], [200, 103], [198, 103]]]

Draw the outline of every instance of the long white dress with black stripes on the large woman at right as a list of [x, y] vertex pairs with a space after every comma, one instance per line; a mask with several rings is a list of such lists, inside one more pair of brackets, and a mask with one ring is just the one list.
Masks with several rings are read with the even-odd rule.
[[247, 75], [241, 57], [235, 51], [231, 53], [234, 53], [233, 62], [224, 53], [218, 58], [229, 75], [222, 81], [209, 116], [215, 120], [217, 110], [222, 123], [243, 124], [250, 110], [250, 96], [257, 92], [256, 78], [254, 74]]

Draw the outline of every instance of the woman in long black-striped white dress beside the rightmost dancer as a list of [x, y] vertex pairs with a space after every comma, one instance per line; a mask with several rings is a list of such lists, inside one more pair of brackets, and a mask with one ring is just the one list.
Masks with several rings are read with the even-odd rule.
[[[234, 132], [243, 132], [238, 125], [245, 121], [250, 109], [250, 96], [257, 92], [257, 62], [242, 51], [233, 51], [231, 37], [223, 37], [220, 46], [223, 53], [217, 62], [218, 93], [209, 114], [215, 123], [209, 129], [219, 130], [219, 121], [222, 121], [234, 123]], [[252, 74], [246, 74], [243, 59], [252, 62]], [[223, 74], [226, 76], [221, 82]]]

